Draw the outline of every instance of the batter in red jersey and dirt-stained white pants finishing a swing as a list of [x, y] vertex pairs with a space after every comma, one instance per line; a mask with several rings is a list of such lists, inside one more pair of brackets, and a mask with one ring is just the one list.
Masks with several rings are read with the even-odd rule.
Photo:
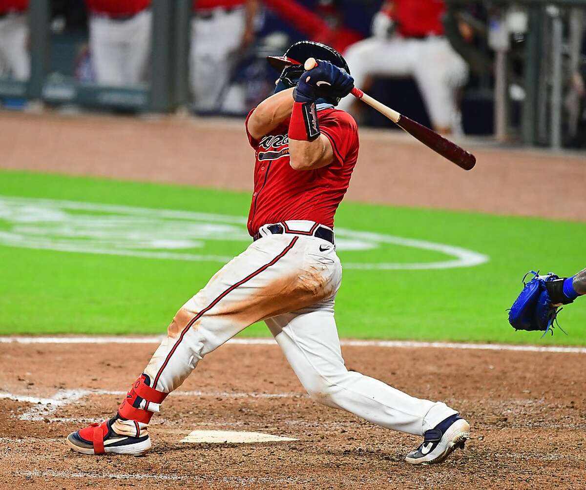
[[[305, 71], [300, 63], [309, 57], [318, 65]], [[352, 116], [335, 107], [353, 79], [325, 44], [302, 41], [270, 61], [282, 70], [275, 94], [246, 119], [255, 152], [248, 215], [254, 241], [179, 309], [117, 414], [69, 434], [80, 453], [146, 453], [149, 421], [166, 396], [206, 354], [260, 320], [316, 401], [424, 436], [408, 462], [440, 462], [469, 437], [469, 424], [445, 403], [346, 369], [333, 309], [342, 279], [333, 221], [359, 142]]]

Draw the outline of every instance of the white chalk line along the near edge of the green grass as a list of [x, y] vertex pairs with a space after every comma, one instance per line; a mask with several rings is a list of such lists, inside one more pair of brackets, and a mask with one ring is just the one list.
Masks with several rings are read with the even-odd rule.
[[[0, 344], [160, 344], [163, 337], [0, 337]], [[232, 345], [277, 345], [273, 338], [233, 338]], [[347, 347], [435, 348], [514, 352], [563, 352], [586, 354], [586, 347], [561, 345], [473, 344], [471, 342], [423, 342], [411, 340], [341, 340]]]

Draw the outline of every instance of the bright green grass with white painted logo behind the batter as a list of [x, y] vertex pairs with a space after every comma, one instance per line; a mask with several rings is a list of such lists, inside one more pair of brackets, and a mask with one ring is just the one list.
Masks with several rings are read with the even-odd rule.
[[[177, 213], [120, 215], [114, 208], [73, 206], [63, 221], [59, 207], [46, 208], [53, 201], [39, 198], [220, 216], [211, 223], [203, 217], [192, 229], [189, 218]], [[222, 258], [250, 243], [239, 220], [249, 204], [246, 193], [0, 172], [0, 334], [164, 333], [175, 311], [205, 285]], [[515, 333], [505, 311], [527, 270], [570, 275], [584, 267], [577, 251], [585, 224], [358, 203], [343, 203], [336, 218], [339, 229], [461, 247], [489, 257], [471, 267], [425, 269], [454, 257], [394, 243], [340, 250], [343, 265], [390, 262], [421, 268], [345, 269], [336, 300], [343, 337], [586, 344], [586, 301], [561, 313], [568, 336], [556, 331], [543, 340], [539, 333]], [[236, 229], [236, 239], [210, 239], [217, 238], [214, 227]], [[183, 229], [193, 235], [185, 243], [166, 241], [168, 234], [181, 237]], [[210, 235], [197, 238], [202, 230]], [[137, 246], [142, 242], [149, 244]], [[60, 251], [50, 249], [56, 243]], [[64, 251], [80, 246], [93, 253]], [[196, 260], [201, 255], [208, 258]], [[268, 331], [253, 325], [243, 334], [266, 336]]]

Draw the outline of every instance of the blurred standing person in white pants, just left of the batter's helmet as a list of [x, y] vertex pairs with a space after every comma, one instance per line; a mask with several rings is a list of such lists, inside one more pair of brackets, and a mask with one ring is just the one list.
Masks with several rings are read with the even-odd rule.
[[258, 0], [195, 0], [190, 85], [197, 111], [220, 108], [239, 54], [254, 40]]

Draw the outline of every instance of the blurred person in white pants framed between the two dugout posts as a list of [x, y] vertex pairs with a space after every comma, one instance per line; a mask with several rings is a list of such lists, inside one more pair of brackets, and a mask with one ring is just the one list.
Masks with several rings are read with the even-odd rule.
[[96, 81], [114, 86], [144, 82], [151, 55], [151, 0], [86, 0], [86, 4]]

